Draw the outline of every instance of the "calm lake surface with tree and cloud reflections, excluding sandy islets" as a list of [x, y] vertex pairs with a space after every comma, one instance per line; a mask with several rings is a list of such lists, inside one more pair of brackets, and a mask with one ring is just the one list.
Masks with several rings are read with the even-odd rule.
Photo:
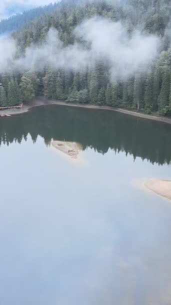
[[0, 118], [0, 305], [169, 305], [171, 203], [138, 185], [170, 179], [170, 135], [102, 110]]

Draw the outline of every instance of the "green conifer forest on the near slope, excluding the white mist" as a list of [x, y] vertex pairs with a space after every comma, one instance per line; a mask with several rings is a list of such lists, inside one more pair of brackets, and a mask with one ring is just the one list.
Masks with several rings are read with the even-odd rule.
[[[125, 66], [125, 77], [111, 78], [110, 62], [103, 58], [88, 66], [80, 62], [80, 69], [71, 68], [68, 61], [69, 68], [42, 63], [42, 69], [30, 70], [27, 67], [22, 73], [18, 70], [2, 73], [0, 105], [28, 102], [42, 95], [48, 99], [107, 104], [171, 115], [170, 0], [125, 0], [122, 5], [113, 5], [109, 1], [82, 0], [77, 3], [65, 0], [50, 14], [35, 19], [22, 31], [13, 34], [18, 46], [17, 58], [23, 56], [25, 48], [32, 44], [41, 46], [50, 28], [58, 31], [64, 50], [76, 43], [82, 46], [82, 50], [88, 50], [90, 46], [81, 37], [75, 37], [74, 29], [93, 16], [120, 21], [129, 37], [136, 30], [142, 35], [157, 36], [160, 41], [158, 55], [145, 69], [140, 66], [133, 70], [134, 73], [128, 74]], [[69, 59], [71, 62], [72, 58]]]

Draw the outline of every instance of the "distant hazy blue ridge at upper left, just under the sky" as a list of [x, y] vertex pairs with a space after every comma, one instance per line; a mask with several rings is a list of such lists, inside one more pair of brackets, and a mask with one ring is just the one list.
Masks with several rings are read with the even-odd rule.
[[0, 21], [0, 34], [10, 33], [18, 31], [25, 24], [32, 21], [33, 19], [50, 13], [57, 8], [58, 4], [49, 4], [48, 6], [38, 7], [29, 11], [24, 11], [22, 14], [17, 14]]

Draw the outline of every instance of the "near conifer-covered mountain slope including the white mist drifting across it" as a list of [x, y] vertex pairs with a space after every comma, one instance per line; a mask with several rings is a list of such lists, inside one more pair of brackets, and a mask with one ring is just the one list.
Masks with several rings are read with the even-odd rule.
[[171, 4], [126, 2], [63, 0], [14, 33], [24, 71], [1, 74], [0, 96], [9, 104], [43, 95], [171, 115]]

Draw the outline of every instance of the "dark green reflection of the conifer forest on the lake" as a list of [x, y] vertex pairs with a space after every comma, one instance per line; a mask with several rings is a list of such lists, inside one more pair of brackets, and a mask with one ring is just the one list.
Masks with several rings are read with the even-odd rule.
[[91, 147], [100, 154], [110, 148], [152, 164], [171, 161], [170, 125], [116, 112], [53, 105], [0, 118], [0, 145], [20, 143], [28, 134], [33, 142], [40, 135], [46, 145], [51, 139], [74, 141], [83, 150]]

